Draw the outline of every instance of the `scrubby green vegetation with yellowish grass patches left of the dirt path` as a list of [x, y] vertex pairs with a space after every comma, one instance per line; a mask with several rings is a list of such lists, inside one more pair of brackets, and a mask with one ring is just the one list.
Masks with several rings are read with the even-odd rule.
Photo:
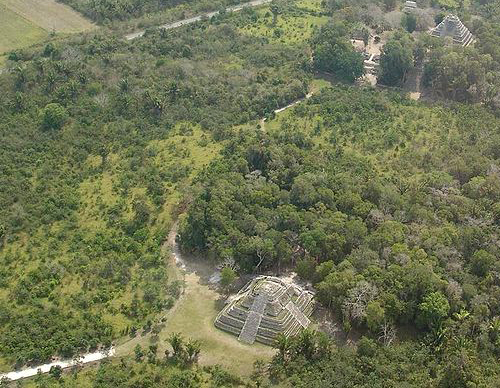
[[72, 357], [171, 307], [160, 248], [212, 134], [307, 90], [303, 48], [231, 21], [165, 34], [62, 38], [0, 76], [6, 362]]

